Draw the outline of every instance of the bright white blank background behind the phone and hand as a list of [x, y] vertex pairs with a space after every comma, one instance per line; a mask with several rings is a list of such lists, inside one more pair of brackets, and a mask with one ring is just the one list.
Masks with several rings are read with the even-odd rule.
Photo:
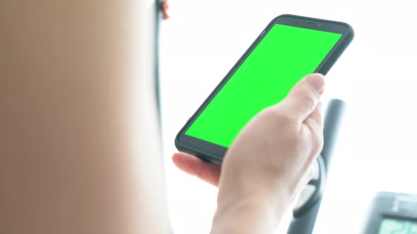
[[[175, 233], [209, 233], [216, 187], [171, 162], [187, 119], [276, 16], [339, 20], [356, 37], [327, 74], [324, 105], [346, 101], [315, 233], [358, 233], [377, 191], [417, 193], [417, 33], [413, 1], [170, 1], [162, 25], [161, 101]], [[288, 212], [278, 233], [285, 233]]]

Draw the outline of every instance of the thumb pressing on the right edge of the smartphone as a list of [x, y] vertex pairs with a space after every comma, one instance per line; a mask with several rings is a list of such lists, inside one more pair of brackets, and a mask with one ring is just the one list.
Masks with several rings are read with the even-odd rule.
[[307, 75], [293, 87], [286, 99], [281, 102], [281, 107], [303, 122], [315, 111], [323, 90], [322, 74]]

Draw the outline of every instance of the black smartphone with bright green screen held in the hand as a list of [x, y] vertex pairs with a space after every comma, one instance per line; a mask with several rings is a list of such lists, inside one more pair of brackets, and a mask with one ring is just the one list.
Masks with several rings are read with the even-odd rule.
[[175, 147], [221, 165], [230, 144], [257, 113], [282, 101], [305, 75], [326, 75], [353, 35], [347, 23], [274, 18], [189, 118]]

